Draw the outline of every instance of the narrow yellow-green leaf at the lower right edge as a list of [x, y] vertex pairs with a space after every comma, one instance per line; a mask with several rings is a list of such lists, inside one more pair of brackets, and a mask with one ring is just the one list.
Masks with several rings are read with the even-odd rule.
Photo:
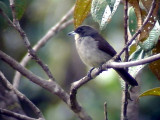
[[160, 96], [160, 87], [147, 90], [144, 93], [140, 94], [138, 98], [143, 96]]

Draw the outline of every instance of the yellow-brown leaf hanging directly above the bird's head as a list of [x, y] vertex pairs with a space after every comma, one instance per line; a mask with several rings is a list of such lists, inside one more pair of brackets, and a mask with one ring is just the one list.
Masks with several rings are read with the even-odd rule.
[[77, 28], [88, 16], [92, 0], [77, 0], [74, 9], [74, 27]]

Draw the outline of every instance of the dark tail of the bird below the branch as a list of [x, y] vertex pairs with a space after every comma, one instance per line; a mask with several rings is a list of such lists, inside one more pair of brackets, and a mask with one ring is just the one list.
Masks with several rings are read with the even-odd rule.
[[137, 81], [123, 68], [116, 68], [116, 72], [122, 77], [122, 79], [131, 86], [138, 86]]

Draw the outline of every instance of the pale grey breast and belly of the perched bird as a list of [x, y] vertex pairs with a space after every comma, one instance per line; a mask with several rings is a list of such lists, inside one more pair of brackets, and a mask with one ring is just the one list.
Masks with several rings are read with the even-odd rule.
[[76, 40], [76, 48], [82, 61], [91, 67], [99, 65], [111, 59], [111, 56], [98, 49], [98, 41], [92, 37], [79, 37]]

